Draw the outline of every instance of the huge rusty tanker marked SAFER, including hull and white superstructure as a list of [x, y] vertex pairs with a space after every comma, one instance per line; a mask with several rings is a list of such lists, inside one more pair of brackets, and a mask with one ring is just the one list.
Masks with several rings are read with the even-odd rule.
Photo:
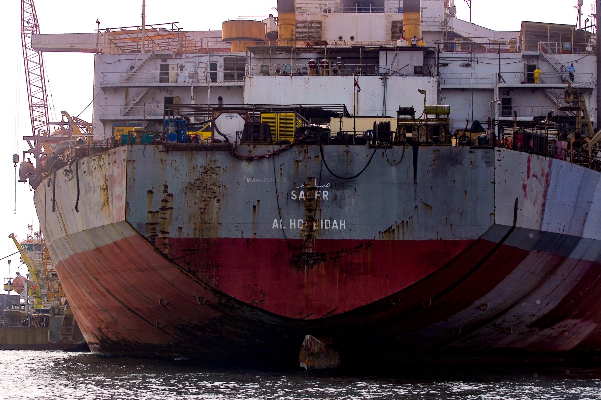
[[601, 360], [596, 32], [496, 32], [453, 0], [277, 8], [32, 36], [96, 59], [93, 134], [28, 137], [20, 166], [90, 350]]

